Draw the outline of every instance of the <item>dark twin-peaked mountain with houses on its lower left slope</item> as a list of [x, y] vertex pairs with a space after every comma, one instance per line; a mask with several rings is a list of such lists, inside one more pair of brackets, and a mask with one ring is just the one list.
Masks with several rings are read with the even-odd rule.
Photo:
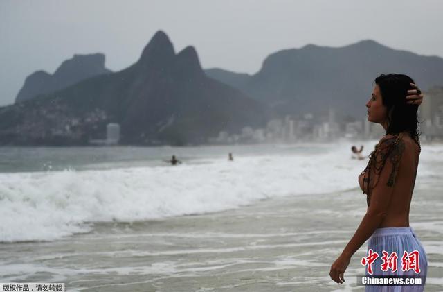
[[263, 126], [266, 108], [204, 74], [162, 31], [121, 71], [0, 108], [0, 144], [87, 144], [120, 123], [123, 144], [199, 144], [221, 130]]

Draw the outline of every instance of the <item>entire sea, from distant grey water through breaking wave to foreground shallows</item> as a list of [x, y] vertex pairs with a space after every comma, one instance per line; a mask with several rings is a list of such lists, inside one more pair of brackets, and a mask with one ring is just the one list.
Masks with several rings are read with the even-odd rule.
[[[364, 145], [367, 156], [377, 141]], [[363, 291], [329, 268], [365, 214], [350, 141], [0, 148], [0, 282], [66, 291]], [[228, 161], [233, 153], [234, 161]], [[424, 144], [410, 226], [443, 291], [443, 144]], [[164, 160], [176, 155], [183, 163]]]

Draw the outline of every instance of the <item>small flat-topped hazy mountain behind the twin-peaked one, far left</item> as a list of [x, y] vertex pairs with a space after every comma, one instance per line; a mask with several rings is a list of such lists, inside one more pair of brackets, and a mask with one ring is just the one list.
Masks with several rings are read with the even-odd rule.
[[108, 73], [111, 73], [111, 70], [105, 68], [105, 55], [102, 53], [74, 55], [73, 58], [62, 62], [52, 75], [45, 71], [36, 71], [26, 77], [15, 102], [26, 101], [39, 94], [50, 94], [80, 80]]

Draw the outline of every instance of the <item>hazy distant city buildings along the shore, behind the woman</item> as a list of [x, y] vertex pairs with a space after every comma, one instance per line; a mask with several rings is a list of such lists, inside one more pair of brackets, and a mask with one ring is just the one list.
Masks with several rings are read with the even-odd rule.
[[[443, 87], [425, 92], [422, 106], [419, 107], [419, 131], [421, 139], [443, 140]], [[366, 140], [379, 139], [385, 134], [383, 127], [368, 121], [338, 120], [336, 111], [329, 109], [323, 117], [305, 113], [298, 117], [286, 116], [284, 119], [271, 119], [266, 128], [244, 127], [239, 133], [219, 132], [217, 137], [208, 139], [210, 144], [248, 144], [248, 143], [294, 143], [299, 141], [336, 141], [337, 139]]]

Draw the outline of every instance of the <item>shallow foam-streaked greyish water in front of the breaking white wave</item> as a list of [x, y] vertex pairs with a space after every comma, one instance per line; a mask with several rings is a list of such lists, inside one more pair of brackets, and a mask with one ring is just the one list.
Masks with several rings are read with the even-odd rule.
[[[295, 186], [296, 187], [296, 186]], [[410, 222], [428, 254], [425, 291], [443, 290], [442, 185], [417, 185]], [[95, 223], [51, 242], [0, 244], [1, 282], [67, 291], [364, 291], [356, 252], [345, 284], [329, 268], [365, 213], [359, 189], [262, 200], [225, 212]]]

